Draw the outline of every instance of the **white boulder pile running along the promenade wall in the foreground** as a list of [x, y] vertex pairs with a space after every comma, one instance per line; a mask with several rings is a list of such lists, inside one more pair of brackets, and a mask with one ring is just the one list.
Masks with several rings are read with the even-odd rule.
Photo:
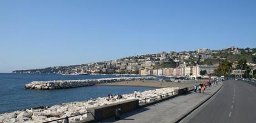
[[[175, 89], [179, 89], [179, 88], [161, 88], [161, 89], [146, 90], [143, 92], [138, 92], [137, 99], [150, 98], [160, 94], [163, 94], [163, 96], [165, 96], [164, 94], [174, 91]], [[51, 107], [46, 106], [43, 109], [27, 109], [24, 111], [14, 111], [11, 113], [0, 114], [0, 123], [45, 122], [45, 121], [60, 119], [66, 116], [81, 114], [86, 112], [87, 109], [91, 107], [108, 105], [115, 102], [121, 102], [125, 100], [130, 100], [130, 99], [135, 99], [134, 94], [124, 94], [122, 95], [122, 99], [117, 99], [117, 96], [114, 96], [114, 98], [104, 97], [104, 98], [91, 99], [91, 100], [81, 101], [81, 102], [70, 102], [70, 103], [65, 103], [61, 105], [54, 105]], [[151, 101], [151, 100], [152, 99], [148, 99], [146, 101]], [[81, 120], [85, 120], [87, 118], [87, 115], [90, 115], [90, 114], [71, 117], [69, 121], [78, 122]], [[55, 122], [60, 123], [65, 121], [58, 120]]]

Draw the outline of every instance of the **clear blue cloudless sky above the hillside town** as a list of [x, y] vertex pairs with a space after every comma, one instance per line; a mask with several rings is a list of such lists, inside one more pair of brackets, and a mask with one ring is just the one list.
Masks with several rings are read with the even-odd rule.
[[0, 1], [0, 73], [256, 47], [256, 1]]

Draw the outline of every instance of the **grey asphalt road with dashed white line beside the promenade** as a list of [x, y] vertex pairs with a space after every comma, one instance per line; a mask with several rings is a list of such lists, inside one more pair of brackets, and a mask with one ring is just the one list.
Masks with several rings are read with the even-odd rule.
[[256, 84], [224, 81], [223, 88], [183, 122], [256, 122]]

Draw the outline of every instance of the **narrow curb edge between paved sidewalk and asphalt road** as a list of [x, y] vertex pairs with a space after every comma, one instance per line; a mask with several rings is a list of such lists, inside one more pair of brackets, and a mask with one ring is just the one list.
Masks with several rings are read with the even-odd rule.
[[205, 99], [204, 101], [200, 102], [198, 105], [196, 105], [193, 109], [191, 109], [188, 113], [180, 116], [178, 119], [175, 119], [174, 122], [177, 123], [177, 122], [180, 122], [181, 120], [183, 120], [186, 116], [190, 115], [191, 112], [195, 111], [196, 109], [198, 109], [198, 107], [200, 107], [201, 105], [203, 105], [206, 101], [208, 101], [209, 99], [211, 99], [216, 93], [219, 92], [219, 90], [223, 87], [224, 83], [220, 86], [220, 88], [215, 91], [215, 93], [211, 96], [209, 96], [209, 98]]

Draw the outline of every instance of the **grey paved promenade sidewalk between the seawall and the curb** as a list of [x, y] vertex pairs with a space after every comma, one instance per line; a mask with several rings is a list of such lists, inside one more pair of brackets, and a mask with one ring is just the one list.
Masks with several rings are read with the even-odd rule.
[[176, 98], [159, 102], [126, 112], [121, 115], [121, 120], [115, 120], [114, 117], [99, 122], [174, 122], [179, 117], [185, 115], [192, 110], [200, 102], [203, 102], [214, 94], [223, 83], [218, 83], [213, 87], [207, 88], [205, 94], [189, 93], [187, 95], [177, 96]]

